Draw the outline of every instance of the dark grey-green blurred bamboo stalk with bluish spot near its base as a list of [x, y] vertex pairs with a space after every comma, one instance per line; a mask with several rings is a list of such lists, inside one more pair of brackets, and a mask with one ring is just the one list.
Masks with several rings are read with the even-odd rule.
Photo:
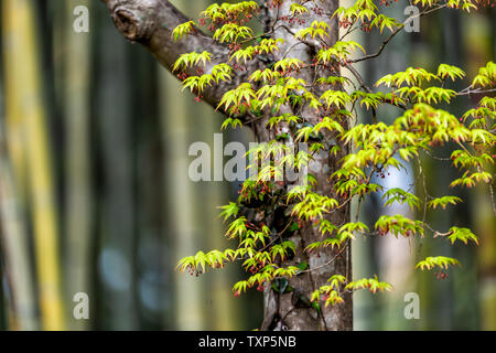
[[[95, 13], [95, 12], [94, 12]], [[98, 18], [100, 15], [100, 18]], [[132, 120], [132, 85], [134, 84], [129, 43], [119, 33], [107, 13], [94, 14], [97, 22], [99, 53], [95, 64], [94, 89], [98, 136], [96, 167], [99, 174], [95, 194], [98, 214], [100, 254], [98, 270], [101, 280], [100, 322], [112, 330], [139, 328], [137, 300], [137, 220], [134, 197], [134, 126]], [[109, 49], [111, 44], [111, 50]], [[136, 49], [138, 50], [138, 49]], [[130, 74], [131, 73], [131, 74]]]

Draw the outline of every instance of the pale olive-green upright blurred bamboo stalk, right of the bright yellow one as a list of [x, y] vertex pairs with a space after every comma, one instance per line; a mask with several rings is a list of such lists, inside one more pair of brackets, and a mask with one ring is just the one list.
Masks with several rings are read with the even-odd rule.
[[[67, 236], [65, 249], [66, 301], [71, 302], [77, 292], [91, 293], [90, 244], [91, 244], [91, 182], [90, 182], [90, 34], [73, 31], [74, 9], [90, 1], [69, 0], [62, 3], [64, 12], [64, 118], [66, 135], [66, 222]], [[62, 30], [62, 29], [61, 29]], [[84, 330], [87, 320], [72, 320], [67, 310], [68, 328]]]

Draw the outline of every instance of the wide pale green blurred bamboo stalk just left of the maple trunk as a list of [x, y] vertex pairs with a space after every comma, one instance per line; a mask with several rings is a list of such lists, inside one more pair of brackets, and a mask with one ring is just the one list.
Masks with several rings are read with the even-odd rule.
[[[194, 2], [174, 1], [185, 13], [197, 15], [211, 0]], [[172, 263], [182, 256], [195, 254], [201, 248], [223, 248], [224, 228], [216, 220], [223, 204], [226, 184], [208, 185], [192, 182], [187, 176], [188, 143], [195, 140], [213, 141], [219, 132], [220, 122], [205, 105], [193, 103], [193, 96], [181, 95], [175, 77], [160, 68], [161, 117], [168, 175], [165, 204], [172, 221], [166, 246], [173, 254]], [[173, 97], [173, 100], [172, 100]], [[198, 116], [202, 120], [198, 121]], [[211, 146], [213, 150], [213, 145]], [[230, 296], [230, 278], [225, 272], [206, 274], [200, 278], [174, 272], [174, 329], [176, 330], [231, 330], [236, 327], [236, 310]]]

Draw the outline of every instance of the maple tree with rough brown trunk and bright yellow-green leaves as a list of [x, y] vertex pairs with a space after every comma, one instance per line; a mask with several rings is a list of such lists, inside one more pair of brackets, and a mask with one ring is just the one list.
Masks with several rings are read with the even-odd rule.
[[[239, 197], [223, 206], [229, 222], [226, 236], [235, 246], [198, 252], [177, 268], [202, 274], [240, 261], [246, 280], [234, 285], [235, 296], [249, 288], [263, 291], [261, 330], [351, 330], [352, 295], [356, 290], [388, 291], [392, 286], [373, 278], [352, 278], [351, 244], [357, 236], [445, 237], [452, 244], [478, 238], [468, 228], [433, 229], [423, 217], [382, 215], [367, 226], [352, 220], [352, 201], [360, 204], [384, 193], [385, 206], [406, 203], [425, 215], [428, 210], [455, 206], [452, 195], [422, 196], [416, 188], [385, 190], [374, 175], [386, 178], [406, 163], [419, 167], [422, 156], [450, 146], [461, 174], [451, 188], [486, 184], [493, 195], [495, 156], [496, 64], [488, 62], [475, 77], [449, 64], [435, 71], [406, 67], [368, 84], [355, 65], [379, 56], [409, 21], [444, 8], [472, 12], [494, 6], [478, 0], [413, 0], [420, 12], [406, 21], [381, 13], [390, 2], [268, 0], [214, 3], [193, 21], [169, 1], [103, 0], [114, 22], [129, 40], [147, 46], [157, 60], [197, 99], [223, 111], [223, 128], [251, 128], [266, 142], [250, 153], [272, 160], [244, 182]], [[388, 33], [377, 52], [366, 53], [349, 40]], [[466, 88], [451, 89], [454, 81]], [[479, 95], [463, 116], [439, 108], [466, 95]], [[381, 121], [379, 108], [397, 108], [397, 119]], [[373, 124], [357, 124], [358, 108]], [[308, 150], [274, 161], [290, 143]], [[305, 183], [276, 182], [281, 164], [308, 169]], [[257, 165], [255, 165], [257, 167]], [[496, 214], [496, 210], [495, 210]], [[445, 256], [427, 257], [419, 270], [457, 265]]]

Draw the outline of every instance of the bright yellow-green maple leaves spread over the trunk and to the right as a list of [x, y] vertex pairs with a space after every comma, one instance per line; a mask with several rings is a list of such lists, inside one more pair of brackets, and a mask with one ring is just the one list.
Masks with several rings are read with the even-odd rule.
[[[309, 15], [305, 1], [292, 2], [290, 17]], [[278, 7], [281, 3], [282, 1], [278, 1], [273, 4]], [[416, 0], [413, 3], [420, 3], [427, 10], [441, 7], [465, 11], [476, 9], [476, 1], [472, 0]], [[198, 252], [183, 258], [179, 264], [180, 270], [204, 272], [209, 267], [222, 268], [226, 263], [241, 261], [250, 276], [234, 286], [234, 292], [238, 296], [249, 288], [261, 290], [271, 285], [273, 288], [274, 282], [280, 284], [283, 279], [314, 270], [308, 268], [306, 264], [289, 266], [287, 260], [302, 255], [299, 252], [328, 252], [328, 248], [338, 255], [358, 234], [424, 237], [427, 232], [432, 232], [434, 236], [446, 236], [452, 244], [455, 240], [478, 244], [477, 237], [467, 228], [453, 227], [442, 234], [433, 231], [424, 221], [410, 220], [399, 214], [381, 216], [373, 231], [360, 222], [333, 224], [328, 215], [349, 205], [353, 199], [358, 200], [359, 204], [364, 197], [379, 192], [382, 193], [385, 206], [407, 204], [412, 211], [445, 208], [462, 202], [460, 197], [450, 195], [421, 200], [412, 190], [384, 190], [381, 185], [373, 183], [375, 174], [386, 178], [391, 169], [403, 169], [405, 163], [420, 163], [421, 152], [430, 154], [439, 146], [455, 147], [451, 163], [460, 169], [461, 178], [451, 182], [450, 186], [489, 184], [493, 174], [488, 169], [495, 157], [490, 151], [495, 145], [496, 98], [485, 96], [477, 107], [462, 117], [439, 108], [439, 105], [449, 104], [470, 92], [494, 89], [496, 64], [489, 62], [482, 67], [464, 92], [448, 88], [450, 83], [465, 79], [466, 76], [463, 69], [448, 64], [439, 65], [434, 72], [407, 67], [403, 72], [386, 75], [376, 83], [377, 89], [374, 92], [358, 79], [360, 77], [357, 74], [354, 74], [355, 77], [347, 77], [341, 73], [341, 68], [353, 64], [352, 56], [357, 51], [365, 53], [360, 44], [345, 41], [343, 36], [333, 45], [326, 45], [331, 28], [325, 21], [314, 21], [295, 31], [291, 39], [305, 45], [310, 45], [309, 41], [312, 41], [311, 45], [319, 49], [314, 57], [308, 62], [287, 57], [287, 54], [281, 54], [281, 49], [290, 45], [284, 40], [272, 38], [273, 33], [256, 35], [240, 21], [259, 11], [255, 1], [211, 6], [203, 12], [203, 17], [211, 23], [213, 39], [229, 47], [229, 56], [225, 62], [212, 66], [212, 54], [208, 52], [186, 53], [177, 60], [174, 71], [200, 68], [203, 74], [188, 76], [183, 86], [202, 94], [206, 87], [231, 82], [244, 69], [240, 65], [248, 65], [257, 60], [266, 63], [262, 68], [251, 72], [247, 76], [248, 81], [240, 82], [236, 88], [226, 92], [219, 100], [218, 109], [227, 115], [223, 128], [240, 127], [247, 120], [246, 117], [255, 117], [265, 119], [267, 129], [277, 136], [278, 141], [311, 142], [309, 152], [301, 151], [296, 156], [282, 153], [285, 157], [281, 162], [301, 170], [316, 156], [333, 156], [337, 168], [328, 175], [332, 190], [326, 194], [320, 193], [312, 174], [308, 175], [306, 184], [276, 182], [274, 176], [283, 175], [278, 174], [280, 169], [277, 163], [269, 163], [255, 178], [244, 183], [236, 202], [223, 207], [224, 221], [230, 222], [226, 236], [236, 239], [237, 247], [224, 252]], [[395, 32], [403, 26], [397, 20], [379, 13], [373, 0], [357, 0], [349, 8], [337, 9], [334, 17], [339, 19], [341, 26], [348, 29], [348, 32], [364, 25], [380, 32], [385, 29]], [[278, 21], [272, 28], [277, 26]], [[215, 24], [214, 28], [212, 23]], [[181, 40], [195, 31], [196, 25], [193, 22], [181, 24], [173, 31], [173, 36]], [[262, 61], [262, 56], [272, 60]], [[319, 73], [313, 82], [303, 78], [306, 77], [303, 73], [309, 69]], [[355, 71], [351, 72], [353, 74]], [[359, 83], [355, 84], [354, 78]], [[377, 109], [385, 105], [402, 110], [402, 115], [390, 125], [377, 121]], [[376, 121], [368, 125], [354, 124], [358, 107], [374, 114]], [[288, 110], [292, 113], [288, 114]], [[317, 118], [309, 118], [309, 111]], [[281, 130], [285, 132], [281, 135]], [[284, 147], [274, 142], [276, 140], [270, 141], [268, 148], [251, 150], [249, 153], [261, 153], [270, 159], [284, 152]], [[245, 211], [252, 208], [265, 214], [265, 217], [276, 210], [284, 210], [287, 224], [280, 229], [267, 226], [263, 217], [248, 220]], [[322, 238], [301, 249], [291, 235], [305, 228], [316, 229]], [[446, 268], [456, 264], [456, 259], [443, 256], [428, 257], [417, 268], [429, 270], [435, 266]], [[291, 290], [290, 286], [277, 288], [278, 291]], [[312, 293], [311, 300], [323, 300], [326, 306], [337, 304], [343, 301], [345, 291], [364, 288], [378, 292], [388, 291], [391, 286], [379, 281], [377, 277], [353, 281], [344, 275], [335, 275], [327, 285]]]

